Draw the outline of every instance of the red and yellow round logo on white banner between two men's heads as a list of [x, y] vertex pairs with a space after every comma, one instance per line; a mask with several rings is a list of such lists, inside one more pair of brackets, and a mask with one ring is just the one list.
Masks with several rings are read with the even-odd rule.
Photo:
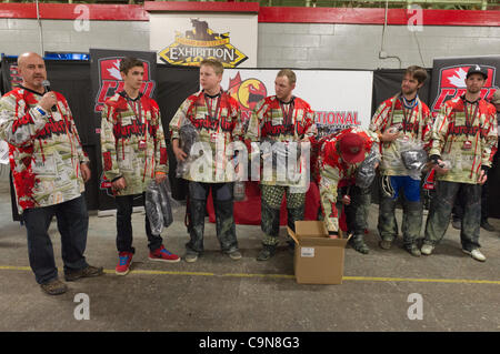
[[228, 93], [240, 104], [242, 120], [246, 121], [250, 118], [257, 102], [268, 95], [268, 90], [266, 84], [259, 79], [241, 80], [241, 74], [238, 71], [233, 79], [229, 79]]

